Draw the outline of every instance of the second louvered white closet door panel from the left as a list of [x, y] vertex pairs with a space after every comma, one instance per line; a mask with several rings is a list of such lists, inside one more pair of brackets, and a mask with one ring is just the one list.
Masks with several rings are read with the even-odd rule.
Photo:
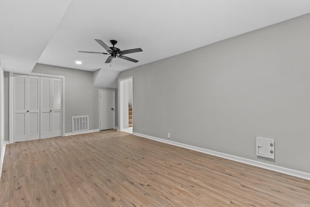
[[40, 77], [27, 80], [27, 140], [40, 139]]

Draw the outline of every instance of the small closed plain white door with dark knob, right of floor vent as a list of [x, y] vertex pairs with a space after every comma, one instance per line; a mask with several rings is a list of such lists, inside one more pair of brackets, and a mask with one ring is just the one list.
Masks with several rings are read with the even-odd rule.
[[115, 114], [115, 92], [108, 90], [100, 90], [100, 130], [114, 128]]

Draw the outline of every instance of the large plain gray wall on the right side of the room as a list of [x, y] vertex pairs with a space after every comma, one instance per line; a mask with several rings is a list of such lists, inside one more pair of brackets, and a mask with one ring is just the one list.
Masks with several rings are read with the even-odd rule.
[[[134, 132], [310, 173], [310, 14], [123, 71]], [[256, 137], [275, 139], [275, 160]]]

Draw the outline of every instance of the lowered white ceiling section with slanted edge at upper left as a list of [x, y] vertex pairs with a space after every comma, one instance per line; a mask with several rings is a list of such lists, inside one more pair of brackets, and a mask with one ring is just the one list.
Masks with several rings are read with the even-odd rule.
[[0, 62], [30, 73], [71, 0], [0, 0]]

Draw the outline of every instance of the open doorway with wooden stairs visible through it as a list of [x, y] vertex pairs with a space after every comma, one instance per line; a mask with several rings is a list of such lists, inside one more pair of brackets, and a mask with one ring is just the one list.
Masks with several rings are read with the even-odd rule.
[[120, 94], [120, 124], [119, 130], [133, 133], [134, 114], [133, 114], [133, 77], [127, 77], [119, 80]]

